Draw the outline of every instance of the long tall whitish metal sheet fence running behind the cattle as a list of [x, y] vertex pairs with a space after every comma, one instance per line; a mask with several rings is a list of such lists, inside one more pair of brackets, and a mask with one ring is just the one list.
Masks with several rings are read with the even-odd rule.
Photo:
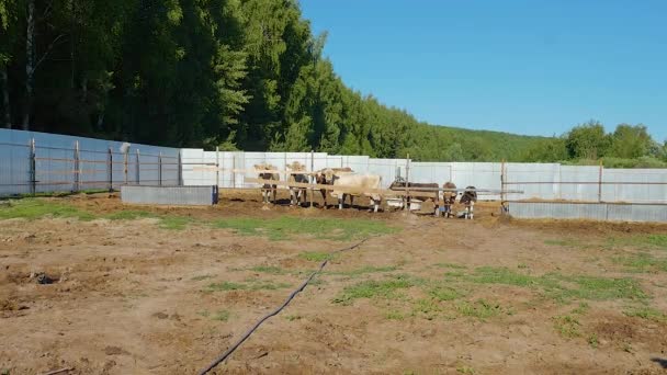
[[[34, 141], [33, 141], [34, 140]], [[667, 203], [666, 169], [603, 169], [558, 163], [411, 162], [325, 152], [215, 152], [132, 145], [63, 135], [0, 129], [0, 195], [128, 184], [257, 188], [253, 166], [279, 170], [294, 161], [307, 170], [350, 167], [378, 174], [383, 188], [396, 177], [410, 182], [446, 181], [459, 188], [519, 190], [523, 194], [484, 195], [483, 200], [567, 200]], [[78, 149], [78, 150], [77, 150]], [[284, 179], [284, 175], [281, 177]]]

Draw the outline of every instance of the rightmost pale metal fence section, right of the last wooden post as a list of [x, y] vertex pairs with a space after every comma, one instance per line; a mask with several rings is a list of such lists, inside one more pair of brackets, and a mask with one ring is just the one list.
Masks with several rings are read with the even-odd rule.
[[603, 184], [604, 202], [667, 203], [667, 171], [664, 169], [604, 169], [602, 181], [642, 183]]

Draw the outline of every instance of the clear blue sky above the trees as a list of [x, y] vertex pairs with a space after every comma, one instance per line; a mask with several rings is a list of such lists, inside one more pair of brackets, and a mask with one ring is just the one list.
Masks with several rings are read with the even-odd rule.
[[431, 124], [667, 140], [665, 0], [301, 0], [354, 90]]

